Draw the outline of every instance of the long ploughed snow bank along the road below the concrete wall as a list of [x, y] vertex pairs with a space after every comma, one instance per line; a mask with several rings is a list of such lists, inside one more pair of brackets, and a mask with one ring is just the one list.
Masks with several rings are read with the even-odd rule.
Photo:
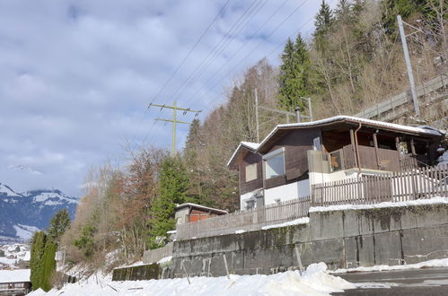
[[[328, 273], [324, 263], [312, 264], [301, 276], [297, 271], [272, 275], [231, 275], [227, 277], [193, 277], [151, 281], [98, 282], [94, 278], [67, 284], [48, 295], [329, 295], [355, 289], [356, 285]], [[31, 292], [29, 295], [41, 295]]]

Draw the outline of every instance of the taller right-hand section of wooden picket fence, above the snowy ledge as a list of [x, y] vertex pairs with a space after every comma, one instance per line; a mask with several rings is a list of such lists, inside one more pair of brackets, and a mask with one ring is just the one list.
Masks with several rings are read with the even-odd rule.
[[448, 197], [447, 165], [312, 185], [313, 206], [371, 205], [435, 196]]

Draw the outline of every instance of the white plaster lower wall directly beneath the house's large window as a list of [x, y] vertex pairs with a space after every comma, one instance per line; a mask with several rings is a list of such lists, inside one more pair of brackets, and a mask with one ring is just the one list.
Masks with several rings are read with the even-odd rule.
[[284, 202], [286, 200], [304, 196], [310, 196], [309, 179], [265, 189], [265, 205], [276, 203], [276, 199], [280, 199], [280, 201]]

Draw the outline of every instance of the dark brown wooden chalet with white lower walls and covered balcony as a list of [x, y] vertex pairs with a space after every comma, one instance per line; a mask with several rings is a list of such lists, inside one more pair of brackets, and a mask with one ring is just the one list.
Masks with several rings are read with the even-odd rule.
[[444, 133], [337, 116], [278, 125], [260, 143], [242, 142], [227, 163], [240, 176], [241, 209], [310, 196], [313, 184], [434, 164]]

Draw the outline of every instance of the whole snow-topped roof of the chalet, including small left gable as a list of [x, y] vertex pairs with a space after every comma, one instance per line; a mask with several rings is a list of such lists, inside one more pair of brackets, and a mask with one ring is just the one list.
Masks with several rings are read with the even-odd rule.
[[[260, 144], [253, 145], [247, 145], [247, 142], [242, 142], [238, 147], [236, 148], [235, 152], [233, 152], [233, 155], [230, 159], [230, 161], [227, 163], [228, 167], [231, 167], [231, 165], [234, 165], [233, 162], [237, 159], [238, 154], [242, 150], [242, 148], [249, 149], [250, 152], [259, 153], [262, 152], [262, 149], [264, 146], [266, 146], [272, 137], [277, 134], [279, 130], [286, 130], [286, 129], [300, 129], [300, 128], [312, 128], [312, 127], [320, 127], [320, 126], [331, 126], [335, 124], [340, 123], [347, 123], [347, 124], [362, 124], [364, 126], [370, 126], [374, 128], [380, 128], [382, 130], [391, 130], [395, 132], [401, 132], [404, 134], [410, 134], [410, 135], [425, 135], [430, 137], [437, 137], [437, 136], [443, 136], [444, 131], [438, 130], [431, 126], [403, 126], [398, 124], [392, 124], [388, 122], [382, 122], [372, 119], [365, 119], [365, 118], [355, 118], [345, 115], [340, 115], [332, 118], [325, 118], [321, 120], [311, 121], [311, 122], [299, 122], [299, 123], [292, 123], [292, 124], [284, 124], [284, 125], [277, 125], [270, 133], [267, 135], [263, 141], [261, 141]], [[256, 147], [256, 148], [255, 148]]]

